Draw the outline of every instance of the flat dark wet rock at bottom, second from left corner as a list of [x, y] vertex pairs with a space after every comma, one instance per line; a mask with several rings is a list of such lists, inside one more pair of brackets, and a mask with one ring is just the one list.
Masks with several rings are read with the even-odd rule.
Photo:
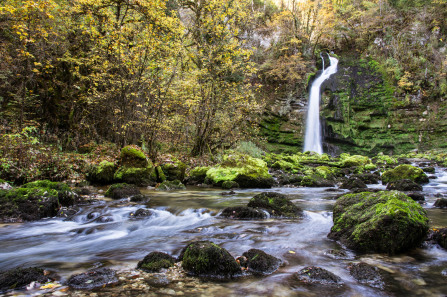
[[116, 272], [109, 268], [99, 268], [72, 275], [67, 285], [76, 290], [93, 290], [118, 283]]

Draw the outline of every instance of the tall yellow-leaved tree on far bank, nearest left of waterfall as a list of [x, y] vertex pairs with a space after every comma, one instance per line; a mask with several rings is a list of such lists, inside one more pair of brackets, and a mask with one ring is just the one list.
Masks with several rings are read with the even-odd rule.
[[183, 98], [192, 155], [234, 143], [248, 132], [258, 109], [251, 92], [251, 50], [242, 42], [250, 1], [180, 1], [189, 12]]

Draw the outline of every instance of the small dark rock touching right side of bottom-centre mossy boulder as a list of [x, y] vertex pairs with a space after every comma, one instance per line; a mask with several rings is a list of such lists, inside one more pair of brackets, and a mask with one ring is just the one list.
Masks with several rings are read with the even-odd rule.
[[[247, 259], [246, 262], [240, 261], [242, 267], [247, 268], [248, 272], [255, 275], [268, 275], [275, 272], [281, 265], [281, 260], [265, 253], [262, 250], [250, 249], [242, 254]], [[243, 266], [244, 265], [244, 266]]]

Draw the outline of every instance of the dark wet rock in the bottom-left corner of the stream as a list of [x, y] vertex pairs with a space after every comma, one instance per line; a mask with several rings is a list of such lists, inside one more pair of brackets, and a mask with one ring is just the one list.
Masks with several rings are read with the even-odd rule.
[[41, 268], [15, 268], [0, 273], [0, 292], [23, 289], [31, 282], [45, 283], [47, 281], [48, 277]]

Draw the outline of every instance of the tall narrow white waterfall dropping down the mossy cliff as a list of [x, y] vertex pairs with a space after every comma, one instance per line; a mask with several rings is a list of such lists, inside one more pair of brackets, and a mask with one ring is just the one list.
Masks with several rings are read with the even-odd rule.
[[[309, 106], [307, 109], [306, 135], [304, 138], [304, 151], [323, 153], [320, 125], [320, 98], [321, 84], [332, 74], [337, 72], [338, 60], [329, 56], [330, 66], [324, 69], [320, 76], [314, 80], [309, 93]], [[323, 59], [324, 65], [324, 59]]]

